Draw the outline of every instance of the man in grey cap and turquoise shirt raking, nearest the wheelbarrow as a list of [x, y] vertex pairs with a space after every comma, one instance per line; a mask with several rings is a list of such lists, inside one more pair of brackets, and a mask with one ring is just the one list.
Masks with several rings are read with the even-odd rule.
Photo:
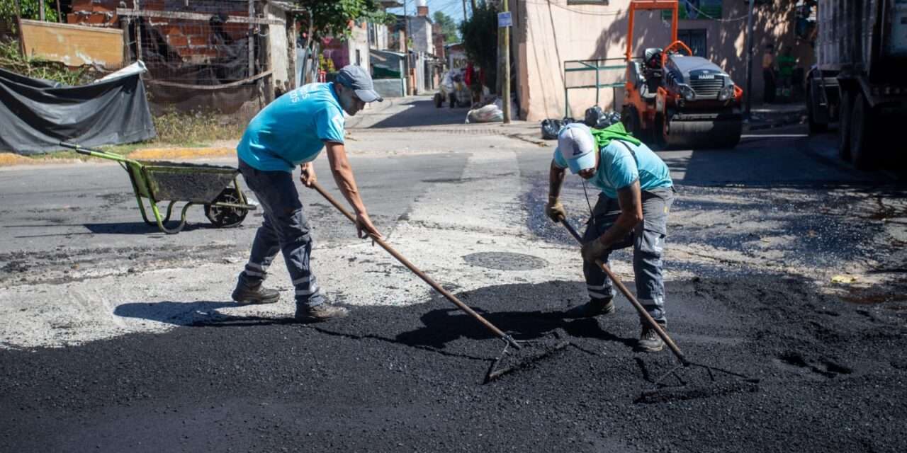
[[356, 211], [359, 237], [381, 237], [359, 197], [353, 169], [344, 148], [344, 112], [356, 115], [366, 102], [383, 101], [372, 78], [361, 67], [348, 65], [336, 82], [309, 83], [280, 96], [249, 122], [239, 141], [239, 171], [264, 210], [249, 262], [239, 274], [233, 300], [239, 304], [271, 304], [279, 293], [262, 286], [268, 266], [283, 253], [296, 290], [296, 319], [325, 321], [346, 316], [346, 308], [329, 304], [309, 263], [312, 238], [302, 202], [293, 183], [298, 166], [303, 185], [317, 180], [312, 161], [327, 149], [337, 188]]

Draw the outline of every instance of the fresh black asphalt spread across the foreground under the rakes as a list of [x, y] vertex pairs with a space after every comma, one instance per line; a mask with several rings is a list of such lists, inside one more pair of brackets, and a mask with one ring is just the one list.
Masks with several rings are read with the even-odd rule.
[[772, 275], [668, 282], [668, 294], [688, 357], [758, 378], [756, 391], [722, 381], [731, 391], [641, 402], [676, 361], [633, 350], [629, 303], [565, 320], [583, 284], [509, 284], [457, 295], [517, 339], [571, 346], [487, 385], [502, 341], [443, 299], [320, 324], [212, 314], [169, 333], [5, 350], [0, 450], [907, 449], [903, 311]]

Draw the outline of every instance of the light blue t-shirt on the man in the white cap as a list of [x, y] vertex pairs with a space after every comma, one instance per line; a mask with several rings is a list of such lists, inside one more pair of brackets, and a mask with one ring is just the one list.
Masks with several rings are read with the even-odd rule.
[[[626, 145], [626, 146], [625, 146]], [[629, 152], [632, 149], [636, 154]], [[634, 145], [629, 141], [610, 140], [607, 146], [600, 147], [599, 169], [590, 183], [601, 189], [608, 198], [618, 198], [618, 190], [629, 187], [639, 179], [640, 190], [669, 188], [674, 185], [670, 171], [665, 162], [645, 144]], [[567, 160], [560, 149], [554, 149], [554, 165], [567, 168]]]

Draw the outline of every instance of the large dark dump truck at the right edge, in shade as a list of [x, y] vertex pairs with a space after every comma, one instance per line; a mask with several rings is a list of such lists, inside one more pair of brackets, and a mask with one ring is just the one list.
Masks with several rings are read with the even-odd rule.
[[883, 143], [907, 118], [907, 0], [819, 0], [816, 64], [806, 77], [811, 132], [838, 124], [838, 155], [857, 169], [902, 163]]

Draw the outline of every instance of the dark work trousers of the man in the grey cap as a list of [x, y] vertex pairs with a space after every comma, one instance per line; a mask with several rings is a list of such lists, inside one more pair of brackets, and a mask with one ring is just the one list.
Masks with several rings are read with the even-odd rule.
[[258, 226], [249, 263], [239, 278], [246, 284], [260, 284], [268, 276], [268, 266], [278, 252], [283, 252], [290, 279], [296, 288], [296, 304], [313, 307], [325, 302], [308, 258], [312, 237], [302, 212], [302, 202], [289, 171], [262, 171], [239, 159], [239, 171], [255, 192], [264, 210], [264, 221]]

